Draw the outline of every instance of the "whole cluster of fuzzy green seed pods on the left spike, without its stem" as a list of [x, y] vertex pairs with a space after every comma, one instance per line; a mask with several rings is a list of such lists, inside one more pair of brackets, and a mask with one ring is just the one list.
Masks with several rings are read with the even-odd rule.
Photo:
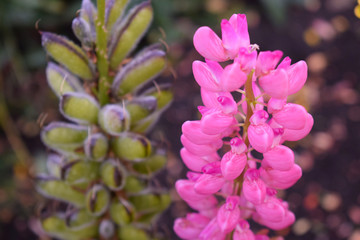
[[169, 85], [151, 83], [166, 67], [165, 52], [154, 44], [129, 58], [153, 18], [150, 1], [130, 5], [129, 0], [105, 3], [106, 103], [98, 95], [100, 13], [94, 4], [83, 0], [72, 23], [81, 46], [41, 32], [51, 59], [47, 81], [68, 120], [41, 132], [51, 153], [37, 189], [63, 203], [41, 222], [58, 239], [159, 239], [151, 226], [170, 204], [169, 194], [151, 181], [165, 166], [166, 151], [147, 135], [173, 98]]

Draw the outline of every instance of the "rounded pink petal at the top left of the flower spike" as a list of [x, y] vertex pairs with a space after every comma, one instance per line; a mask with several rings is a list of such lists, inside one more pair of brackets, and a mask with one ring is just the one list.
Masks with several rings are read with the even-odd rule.
[[201, 27], [195, 32], [194, 46], [204, 58], [217, 62], [228, 60], [221, 39], [209, 27]]

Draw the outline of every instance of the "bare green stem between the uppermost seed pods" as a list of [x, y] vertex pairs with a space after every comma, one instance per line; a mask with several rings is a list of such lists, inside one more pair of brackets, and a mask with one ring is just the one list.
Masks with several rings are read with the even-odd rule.
[[99, 70], [99, 101], [101, 105], [109, 102], [109, 61], [107, 58], [107, 31], [105, 28], [105, 0], [97, 0], [98, 14], [96, 24], [96, 55]]

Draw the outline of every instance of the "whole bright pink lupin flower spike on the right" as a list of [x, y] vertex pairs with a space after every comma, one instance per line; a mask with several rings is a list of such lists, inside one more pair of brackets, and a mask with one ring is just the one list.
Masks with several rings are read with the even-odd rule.
[[[176, 190], [197, 212], [176, 219], [174, 230], [182, 239], [266, 240], [250, 230], [248, 220], [273, 230], [295, 221], [276, 195], [302, 175], [293, 151], [281, 144], [305, 137], [313, 126], [303, 106], [287, 103], [304, 85], [307, 65], [291, 64], [289, 57], [280, 62], [281, 51], [258, 53], [243, 14], [222, 20], [221, 31], [221, 39], [208, 27], [194, 36], [205, 58], [193, 63], [204, 106], [198, 107], [201, 120], [182, 126], [180, 154], [191, 171]], [[223, 68], [224, 61], [230, 63]]]

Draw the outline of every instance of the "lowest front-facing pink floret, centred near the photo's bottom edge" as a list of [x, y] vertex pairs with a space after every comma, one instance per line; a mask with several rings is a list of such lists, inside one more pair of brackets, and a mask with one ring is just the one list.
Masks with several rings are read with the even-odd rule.
[[217, 221], [223, 233], [231, 232], [240, 219], [240, 209], [238, 207], [239, 197], [229, 196], [226, 198], [217, 214]]

